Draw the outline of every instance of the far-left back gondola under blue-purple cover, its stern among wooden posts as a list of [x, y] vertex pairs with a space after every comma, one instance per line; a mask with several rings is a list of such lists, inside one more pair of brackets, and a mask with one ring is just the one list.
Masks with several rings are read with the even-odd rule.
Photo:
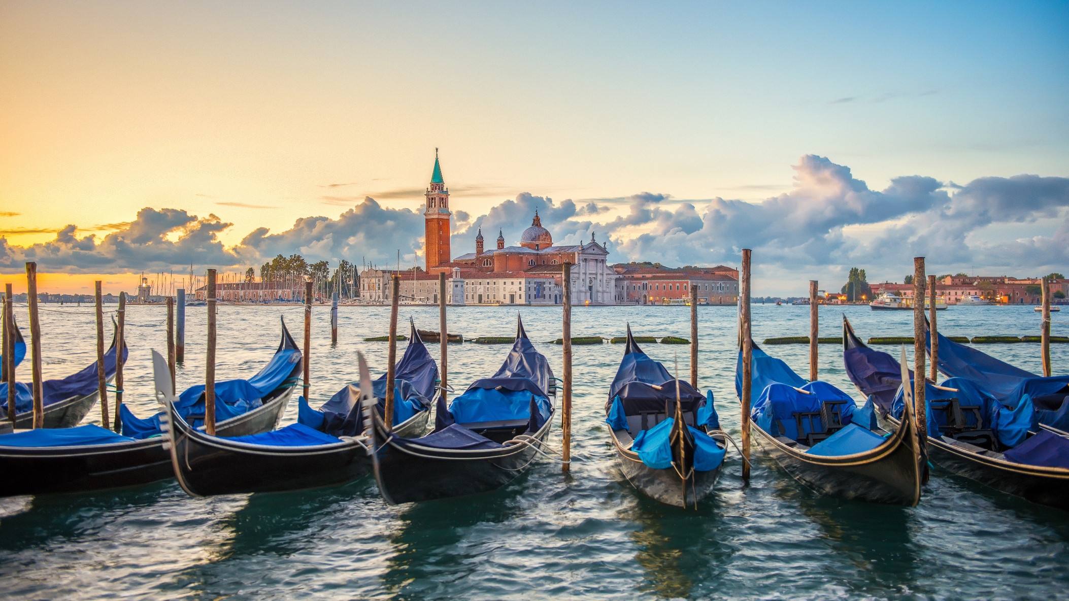
[[[22, 334], [16, 327], [15, 361], [21, 359], [17, 344], [21, 342], [21, 355], [26, 355], [26, 342], [22, 341]], [[115, 342], [118, 340], [118, 328], [111, 337], [111, 346], [104, 354], [104, 372], [108, 382], [115, 376]], [[129, 350], [123, 344], [123, 364]], [[96, 372], [96, 361], [90, 364], [86, 369], [72, 373], [66, 377], [57, 380], [46, 380], [41, 383], [42, 403], [45, 410], [44, 428], [73, 428], [80, 422], [89, 411], [93, 409], [100, 398], [98, 388], [98, 374]], [[0, 405], [4, 410], [7, 407], [7, 383], [0, 383]], [[33, 428], [33, 392], [29, 384], [17, 382], [15, 384], [15, 428]]]

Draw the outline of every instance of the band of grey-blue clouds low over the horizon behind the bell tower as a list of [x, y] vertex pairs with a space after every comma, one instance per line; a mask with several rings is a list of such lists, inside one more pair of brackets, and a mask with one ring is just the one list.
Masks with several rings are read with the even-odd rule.
[[[871, 280], [900, 278], [912, 258], [925, 256], [932, 269], [994, 269], [1029, 275], [1065, 271], [1069, 264], [1069, 179], [1014, 175], [979, 178], [964, 185], [924, 175], [892, 180], [870, 189], [849, 167], [806, 155], [793, 166], [792, 187], [759, 202], [739, 199], [680, 200], [642, 191], [622, 198], [571, 199], [522, 192], [485, 214], [453, 214], [453, 257], [475, 250], [476, 232], [487, 241], [500, 230], [517, 244], [534, 211], [554, 242], [589, 242], [597, 232], [608, 242], [610, 261], [657, 261], [667, 265], [738, 264], [741, 249], [754, 250], [755, 275], [770, 283], [766, 293], [800, 289], [808, 279], [838, 281], [850, 266]], [[339, 259], [392, 264], [397, 253], [410, 265], [423, 251], [422, 205], [383, 206], [371, 197], [324, 197], [346, 205], [337, 218], [297, 219], [292, 228], [261, 228], [224, 248], [217, 234], [230, 224], [215, 215], [199, 218], [174, 209], [143, 209], [130, 222], [96, 226], [114, 230], [103, 238], [78, 238], [78, 228], [22, 228], [9, 233], [55, 232], [56, 240], [29, 246], [0, 237], [0, 267], [21, 269], [37, 261], [43, 269], [67, 273], [123, 273], [188, 265], [258, 266], [276, 255], [299, 252], [310, 261]], [[614, 214], [618, 207], [622, 214]], [[1053, 226], [1052, 226], [1053, 224]], [[1050, 235], [1035, 235], [1041, 226]], [[997, 231], [1027, 232], [1017, 240]], [[177, 233], [177, 236], [175, 236]], [[170, 240], [169, 240], [170, 238]], [[173, 242], [171, 242], [173, 241]], [[493, 243], [487, 246], [493, 247]], [[758, 279], [758, 282], [761, 282]]]

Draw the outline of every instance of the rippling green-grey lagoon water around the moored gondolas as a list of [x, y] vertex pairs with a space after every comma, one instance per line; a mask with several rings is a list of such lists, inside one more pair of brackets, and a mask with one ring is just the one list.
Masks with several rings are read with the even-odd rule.
[[[46, 306], [46, 376], [95, 357], [93, 314]], [[838, 336], [842, 311], [857, 334], [909, 336], [912, 313], [822, 308], [821, 335]], [[355, 379], [356, 351], [385, 368], [388, 308], [340, 309], [330, 345], [329, 310], [313, 311], [312, 404]], [[303, 309], [219, 311], [218, 377], [250, 375], [279, 339], [278, 315], [300, 339]], [[808, 334], [808, 307], [754, 307], [754, 338]], [[437, 308], [401, 309], [437, 329]], [[561, 374], [559, 308], [526, 308], [530, 338]], [[201, 382], [203, 307], [187, 313], [180, 387]], [[735, 309], [700, 307], [700, 384], [716, 397], [724, 427], [738, 437], [733, 377]], [[515, 312], [451, 308], [450, 332], [510, 335]], [[1054, 334], [1066, 327], [1055, 314]], [[20, 318], [25, 324], [25, 319]], [[577, 308], [573, 335], [690, 337], [686, 307]], [[130, 307], [126, 402], [157, 411], [149, 350], [166, 348], [165, 311]], [[405, 326], [406, 327], [406, 326]], [[1032, 307], [969, 307], [940, 312], [951, 335], [1038, 334]], [[1055, 371], [1069, 345], [1055, 344]], [[429, 345], [437, 356], [437, 344]], [[687, 346], [645, 344], [688, 377]], [[806, 345], [770, 346], [808, 373]], [[887, 348], [896, 351], [897, 348]], [[1040, 371], [1038, 344], [983, 346]], [[450, 381], [491, 373], [506, 345], [450, 344]], [[824, 498], [790, 479], [760, 451], [752, 486], [741, 488], [731, 451], [715, 494], [698, 511], [660, 505], [622, 477], [607, 443], [604, 402], [622, 345], [575, 346], [575, 462], [570, 476], [543, 462], [494, 493], [391, 507], [373, 479], [298, 493], [190, 498], [173, 482], [92, 494], [0, 499], [0, 587], [25, 599], [1048, 599], [1069, 585], [1069, 515], [936, 469], [916, 508]], [[820, 346], [821, 377], [857, 397], [842, 352]], [[912, 356], [912, 354], [911, 354]], [[911, 358], [912, 361], [912, 358]], [[912, 365], [912, 364], [911, 364]], [[29, 370], [24, 368], [22, 374]], [[99, 410], [87, 421], [99, 422]], [[296, 419], [292, 403], [285, 422]], [[551, 442], [559, 448], [559, 429]]]

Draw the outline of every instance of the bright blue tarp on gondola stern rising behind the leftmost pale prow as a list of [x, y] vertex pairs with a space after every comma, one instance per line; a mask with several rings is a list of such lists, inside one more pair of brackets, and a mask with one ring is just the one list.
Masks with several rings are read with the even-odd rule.
[[[248, 413], [261, 405], [265, 395], [272, 392], [293, 372], [294, 365], [300, 360], [300, 351], [296, 349], [279, 349], [259, 373], [249, 380], [227, 380], [215, 384], [215, 421], [219, 423], [227, 419]], [[198, 384], [186, 388], [174, 403], [174, 410], [183, 419], [189, 421], [190, 415], [204, 414], [204, 385]], [[123, 423], [123, 434], [135, 438], [146, 438], [161, 432], [159, 418], [164, 413], [146, 419], [135, 416], [123, 403], [119, 417]], [[195, 419], [190, 426], [198, 428], [203, 419]]]

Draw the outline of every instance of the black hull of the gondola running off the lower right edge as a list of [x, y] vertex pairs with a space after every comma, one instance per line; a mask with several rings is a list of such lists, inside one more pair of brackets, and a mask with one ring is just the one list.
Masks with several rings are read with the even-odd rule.
[[[887, 429], [898, 428], [898, 420], [889, 416], [882, 417], [881, 423], [886, 423]], [[931, 436], [928, 457], [932, 463], [996, 491], [1069, 511], [1069, 469], [1000, 461]]]

